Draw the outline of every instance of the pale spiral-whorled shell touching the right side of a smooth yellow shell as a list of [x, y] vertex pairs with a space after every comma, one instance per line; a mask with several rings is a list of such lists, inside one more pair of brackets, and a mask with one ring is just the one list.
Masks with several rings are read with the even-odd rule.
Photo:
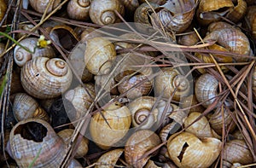
[[128, 108], [131, 111], [132, 125], [140, 129], [150, 129], [158, 119], [158, 110], [153, 111], [155, 99], [152, 96], [138, 97], [129, 103]]

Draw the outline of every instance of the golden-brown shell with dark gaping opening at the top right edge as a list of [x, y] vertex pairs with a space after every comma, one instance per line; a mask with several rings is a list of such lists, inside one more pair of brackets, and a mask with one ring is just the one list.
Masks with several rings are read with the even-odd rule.
[[227, 14], [233, 7], [232, 0], [201, 0], [196, 11], [196, 18], [201, 25], [208, 25], [220, 20], [220, 16]]

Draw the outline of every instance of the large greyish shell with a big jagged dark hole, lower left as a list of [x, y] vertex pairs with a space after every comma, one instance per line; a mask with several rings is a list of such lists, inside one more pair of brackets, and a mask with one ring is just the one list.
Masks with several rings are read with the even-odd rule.
[[41, 119], [20, 121], [9, 136], [10, 153], [19, 167], [60, 167], [67, 146], [52, 127]]

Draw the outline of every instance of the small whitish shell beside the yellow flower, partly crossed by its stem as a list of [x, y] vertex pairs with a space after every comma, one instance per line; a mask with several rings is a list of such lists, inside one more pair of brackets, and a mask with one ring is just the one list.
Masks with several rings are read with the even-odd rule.
[[45, 48], [38, 48], [37, 47], [38, 38], [25, 38], [20, 41], [20, 45], [23, 45], [30, 51], [34, 53], [29, 53], [25, 49], [21, 48], [20, 45], [15, 47], [14, 56], [15, 56], [15, 63], [23, 67], [27, 61], [30, 61], [38, 56], [44, 56], [53, 58], [55, 57], [55, 51], [49, 45]]

